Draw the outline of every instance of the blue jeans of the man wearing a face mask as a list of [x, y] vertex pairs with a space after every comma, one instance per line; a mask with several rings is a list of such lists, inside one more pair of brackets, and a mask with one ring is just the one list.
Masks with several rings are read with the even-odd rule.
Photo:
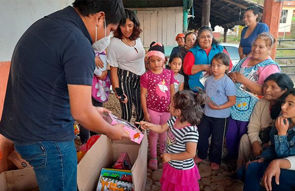
[[14, 143], [34, 167], [40, 191], [77, 191], [77, 153], [74, 141]]

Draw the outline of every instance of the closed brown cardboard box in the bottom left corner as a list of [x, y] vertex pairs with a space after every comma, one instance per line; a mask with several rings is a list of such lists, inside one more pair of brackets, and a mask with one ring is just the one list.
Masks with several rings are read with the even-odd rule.
[[32, 167], [5, 171], [0, 174], [0, 191], [33, 191], [38, 189]]

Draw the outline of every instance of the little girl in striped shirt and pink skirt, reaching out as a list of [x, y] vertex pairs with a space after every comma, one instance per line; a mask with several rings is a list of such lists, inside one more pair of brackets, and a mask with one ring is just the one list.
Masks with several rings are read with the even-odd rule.
[[157, 133], [168, 130], [166, 153], [162, 154], [161, 191], [199, 191], [200, 174], [193, 158], [199, 139], [197, 126], [203, 115], [205, 94], [180, 91], [173, 97], [166, 124], [155, 125], [141, 121], [143, 129]]

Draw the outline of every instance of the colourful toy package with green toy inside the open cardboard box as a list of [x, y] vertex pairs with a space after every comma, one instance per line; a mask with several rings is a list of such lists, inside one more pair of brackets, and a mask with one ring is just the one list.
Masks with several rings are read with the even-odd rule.
[[96, 191], [134, 191], [131, 171], [102, 168]]

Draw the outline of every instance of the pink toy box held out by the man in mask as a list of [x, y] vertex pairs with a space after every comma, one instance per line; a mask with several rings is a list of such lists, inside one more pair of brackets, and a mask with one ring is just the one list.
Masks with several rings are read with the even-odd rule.
[[115, 125], [115, 124], [124, 124], [124, 132], [125, 134], [129, 135], [130, 136], [130, 140], [131, 141], [134, 141], [138, 144], [141, 143], [143, 137], [144, 137], [144, 134], [136, 127], [134, 126], [133, 124], [121, 119], [121, 118], [118, 118], [116, 117], [115, 115], [111, 114], [111, 113], [104, 113], [105, 115], [105, 120], [111, 124], [111, 125]]

